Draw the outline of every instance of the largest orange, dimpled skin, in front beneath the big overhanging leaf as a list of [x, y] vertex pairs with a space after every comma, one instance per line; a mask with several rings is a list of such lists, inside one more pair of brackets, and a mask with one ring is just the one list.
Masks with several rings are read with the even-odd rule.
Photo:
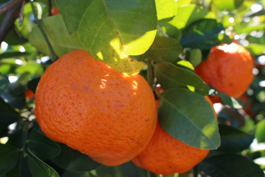
[[107, 166], [139, 155], [154, 133], [154, 95], [139, 74], [125, 77], [85, 50], [63, 55], [36, 89], [36, 119], [52, 140]]

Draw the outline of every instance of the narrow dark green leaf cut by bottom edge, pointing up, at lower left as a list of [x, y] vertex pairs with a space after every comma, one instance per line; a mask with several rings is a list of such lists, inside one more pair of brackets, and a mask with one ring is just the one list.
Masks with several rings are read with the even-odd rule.
[[28, 148], [28, 163], [32, 176], [38, 177], [59, 177], [58, 173], [46, 163], [37, 158]]

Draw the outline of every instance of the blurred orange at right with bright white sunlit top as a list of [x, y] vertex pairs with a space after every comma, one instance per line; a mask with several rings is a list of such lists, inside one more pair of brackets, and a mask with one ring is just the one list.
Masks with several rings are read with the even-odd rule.
[[253, 80], [253, 65], [249, 51], [232, 42], [213, 47], [195, 73], [218, 91], [239, 98]]

